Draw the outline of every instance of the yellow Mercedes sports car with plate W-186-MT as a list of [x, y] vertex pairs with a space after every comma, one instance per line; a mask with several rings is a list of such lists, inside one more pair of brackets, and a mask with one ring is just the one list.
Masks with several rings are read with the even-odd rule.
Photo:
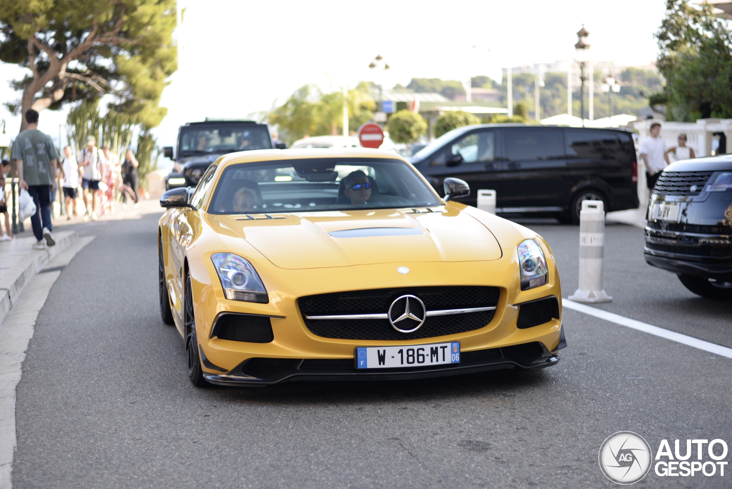
[[216, 160], [160, 205], [160, 313], [193, 384], [423, 378], [559, 362], [544, 239], [375, 149]]

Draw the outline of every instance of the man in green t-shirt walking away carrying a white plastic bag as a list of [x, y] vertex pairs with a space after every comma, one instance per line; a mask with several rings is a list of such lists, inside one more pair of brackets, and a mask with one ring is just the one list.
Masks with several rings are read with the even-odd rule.
[[[46, 245], [56, 245], [51, 230], [51, 185], [56, 177], [56, 163], [59, 153], [48, 135], [38, 130], [38, 113], [29, 108], [25, 113], [28, 129], [20, 132], [12, 145], [12, 159], [20, 180], [21, 189], [28, 190], [36, 204], [36, 213], [31, 216], [33, 234], [38, 242], [36, 250]], [[45, 239], [45, 243], [43, 240]]]

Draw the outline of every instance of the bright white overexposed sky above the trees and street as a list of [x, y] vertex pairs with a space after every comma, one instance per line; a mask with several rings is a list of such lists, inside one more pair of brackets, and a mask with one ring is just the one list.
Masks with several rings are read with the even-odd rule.
[[[501, 67], [568, 59], [576, 32], [590, 31], [595, 61], [649, 64], [664, 0], [240, 1], [180, 0], [182, 64], [163, 92], [168, 117], [155, 132], [173, 145], [184, 122], [245, 118], [305, 83], [323, 89], [413, 77], [497, 77]], [[476, 45], [476, 48], [471, 46]], [[490, 51], [488, 51], [490, 49]], [[381, 53], [389, 72], [368, 64]], [[25, 70], [0, 64], [0, 103], [20, 97], [7, 81]], [[378, 79], [376, 75], [383, 78]], [[57, 136], [66, 111], [43, 111], [40, 129]], [[0, 108], [14, 134], [20, 119]]]

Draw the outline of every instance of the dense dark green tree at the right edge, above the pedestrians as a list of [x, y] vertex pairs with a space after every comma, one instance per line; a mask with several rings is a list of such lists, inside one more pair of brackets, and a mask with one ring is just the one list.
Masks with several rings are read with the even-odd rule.
[[732, 37], [712, 7], [667, 0], [656, 37], [666, 86], [649, 102], [665, 102], [667, 120], [732, 117]]

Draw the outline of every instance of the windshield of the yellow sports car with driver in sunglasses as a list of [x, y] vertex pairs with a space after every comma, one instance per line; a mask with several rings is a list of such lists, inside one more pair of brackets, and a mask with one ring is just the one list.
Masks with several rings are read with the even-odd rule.
[[318, 158], [241, 163], [225, 168], [210, 214], [262, 214], [439, 206], [400, 160]]

